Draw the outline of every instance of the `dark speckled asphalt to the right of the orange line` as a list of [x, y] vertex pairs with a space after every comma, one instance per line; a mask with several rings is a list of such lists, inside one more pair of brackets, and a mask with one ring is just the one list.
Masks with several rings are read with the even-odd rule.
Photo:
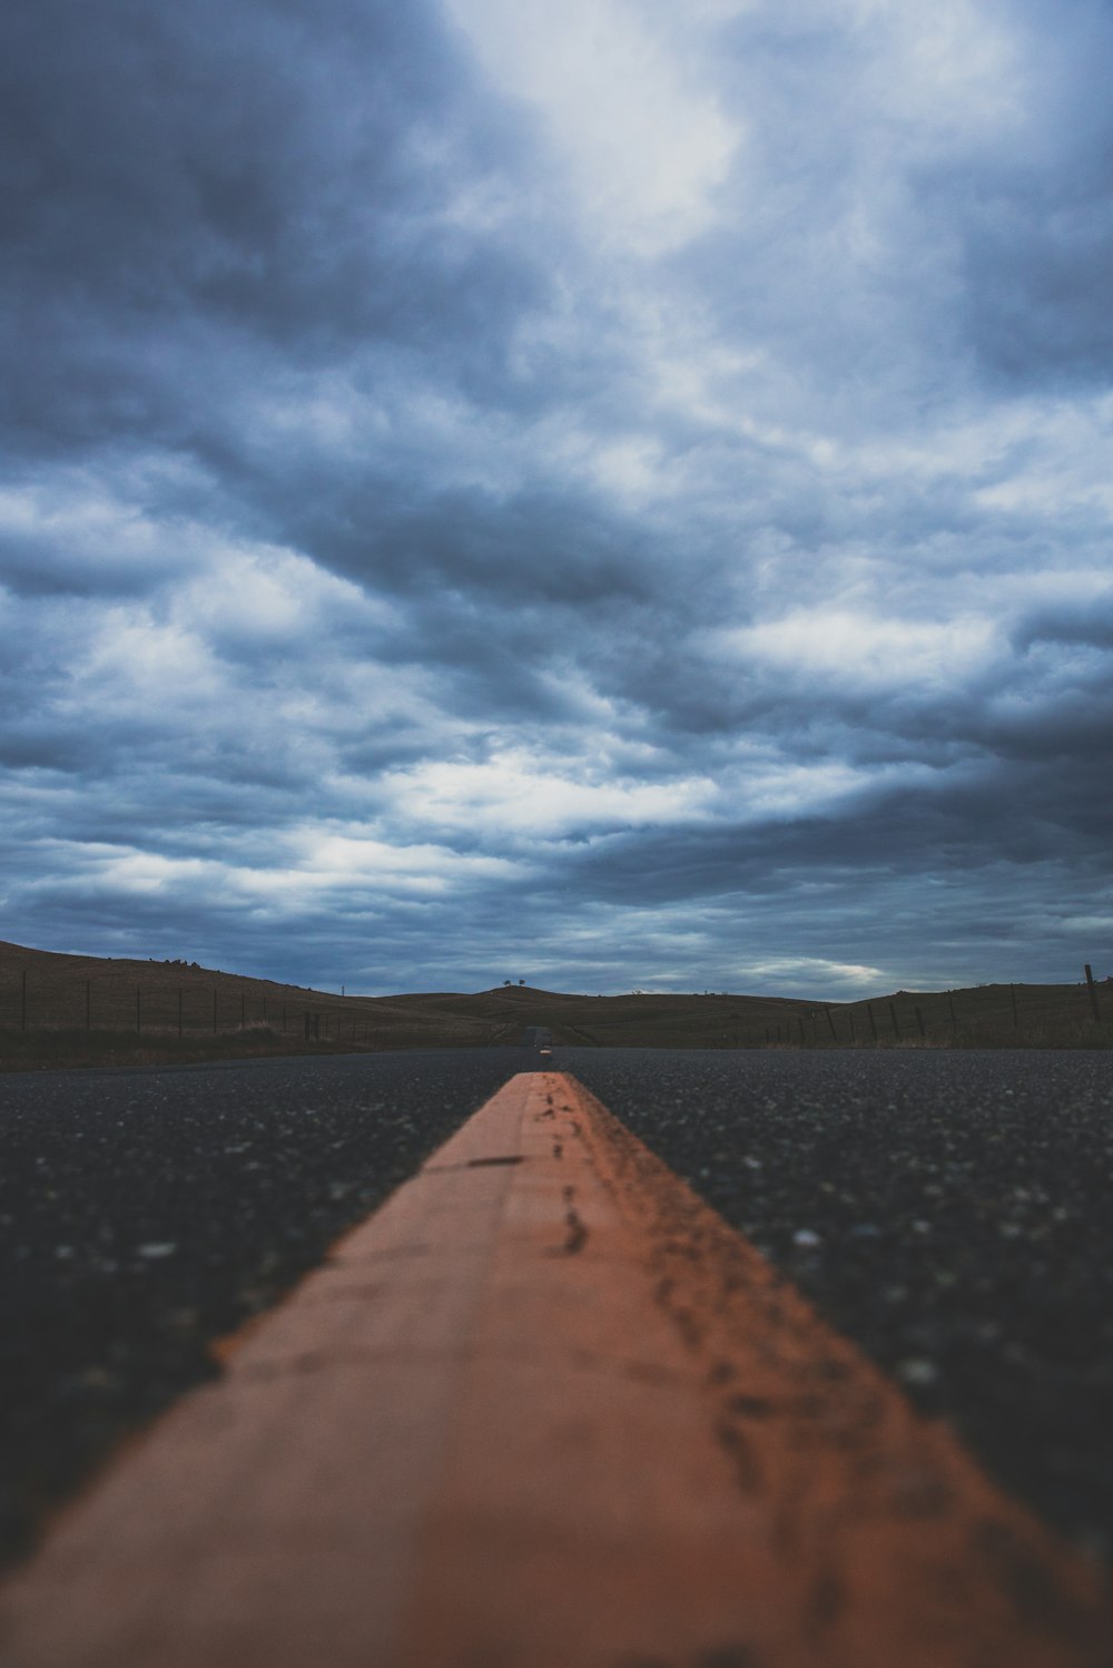
[[1113, 1546], [1113, 1059], [558, 1048], [816, 1308]]

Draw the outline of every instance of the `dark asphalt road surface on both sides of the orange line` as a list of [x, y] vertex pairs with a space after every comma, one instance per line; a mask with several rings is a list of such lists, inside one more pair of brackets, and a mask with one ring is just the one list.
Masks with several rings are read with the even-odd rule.
[[[0, 1079], [0, 1546], [525, 1049]], [[548, 1061], [547, 1061], [548, 1064]], [[555, 1049], [983, 1463], [1113, 1528], [1113, 1059]]]

